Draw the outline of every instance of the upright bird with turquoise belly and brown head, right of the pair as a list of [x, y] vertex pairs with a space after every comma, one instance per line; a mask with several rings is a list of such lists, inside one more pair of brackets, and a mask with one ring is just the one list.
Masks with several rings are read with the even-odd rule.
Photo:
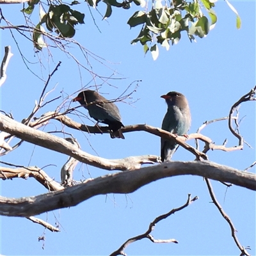
[[[162, 129], [179, 136], [186, 135], [191, 125], [191, 114], [188, 100], [179, 92], [168, 92], [162, 95], [168, 106]], [[177, 150], [177, 143], [161, 138], [161, 161], [168, 161]]]

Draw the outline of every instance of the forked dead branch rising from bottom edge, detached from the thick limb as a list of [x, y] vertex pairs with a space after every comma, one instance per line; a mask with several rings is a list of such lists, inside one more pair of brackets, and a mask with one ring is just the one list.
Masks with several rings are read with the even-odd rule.
[[179, 243], [176, 239], [155, 239], [150, 233], [152, 232], [152, 230], [154, 230], [156, 224], [161, 221], [164, 220], [166, 218], [168, 218], [170, 215], [174, 214], [177, 211], [180, 211], [182, 209], [184, 209], [185, 207], [188, 207], [189, 204], [193, 203], [195, 200], [197, 200], [198, 197], [195, 196], [193, 199], [191, 199], [191, 195], [188, 195], [188, 200], [186, 202], [186, 204], [182, 205], [179, 208], [175, 208], [172, 209], [172, 211], [167, 212], [166, 214], [163, 214], [161, 216], [158, 216], [154, 221], [152, 221], [152, 223], [150, 223], [148, 230], [139, 235], [139, 236], [135, 236], [135, 237], [131, 237], [130, 239], [128, 239], [124, 244], [122, 244], [120, 246], [120, 248], [118, 248], [115, 252], [111, 253], [110, 256], [116, 256], [116, 255], [126, 255], [126, 253], [124, 252], [124, 249], [131, 243], [134, 243], [136, 241], [139, 241], [143, 238], [148, 238], [150, 241], [152, 241], [152, 243]]

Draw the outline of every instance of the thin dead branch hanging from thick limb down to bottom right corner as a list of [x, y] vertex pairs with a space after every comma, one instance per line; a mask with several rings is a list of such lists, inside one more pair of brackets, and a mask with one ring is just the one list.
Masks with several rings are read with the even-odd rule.
[[248, 255], [248, 256], [250, 256], [250, 254], [248, 252], [246, 252], [246, 249], [244, 248], [244, 246], [241, 246], [241, 244], [239, 243], [239, 241], [237, 239], [237, 236], [236, 236], [237, 230], [234, 227], [234, 224], [232, 223], [232, 220], [230, 220], [230, 217], [228, 216], [228, 214], [222, 209], [220, 203], [218, 202], [216, 196], [214, 195], [214, 191], [213, 191], [213, 188], [212, 188], [210, 180], [209, 179], [205, 179], [205, 182], [207, 184], [207, 188], [208, 188], [209, 193], [211, 195], [212, 202], [214, 203], [214, 205], [216, 205], [217, 209], [220, 211], [220, 214], [223, 216], [223, 218], [227, 221], [228, 225], [230, 226], [232, 237], [233, 237], [237, 247], [241, 251], [241, 255]]

